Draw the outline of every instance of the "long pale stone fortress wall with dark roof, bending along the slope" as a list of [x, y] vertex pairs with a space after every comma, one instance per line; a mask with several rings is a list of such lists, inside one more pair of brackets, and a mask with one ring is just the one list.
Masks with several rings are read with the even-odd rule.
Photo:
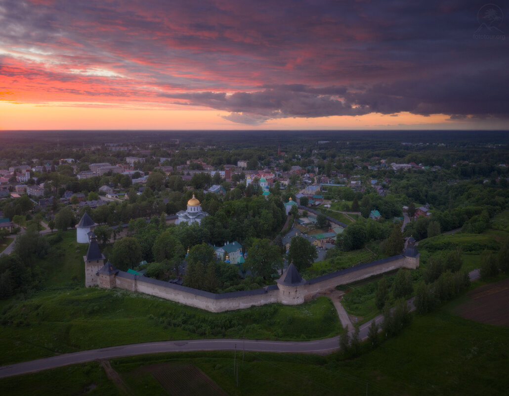
[[209, 293], [185, 286], [171, 284], [162, 280], [116, 271], [112, 274], [99, 274], [97, 285], [105, 288], [120, 288], [157, 296], [185, 305], [206, 309], [210, 312], [248, 308], [252, 305], [264, 305], [281, 302], [296, 305], [314, 295], [331, 290], [337, 285], [345, 285], [356, 280], [368, 278], [401, 267], [417, 268], [418, 257], [406, 257], [402, 254], [361, 264], [352, 268], [336, 271], [305, 281], [298, 286], [272, 285], [263, 289], [246, 290], [232, 293]]

